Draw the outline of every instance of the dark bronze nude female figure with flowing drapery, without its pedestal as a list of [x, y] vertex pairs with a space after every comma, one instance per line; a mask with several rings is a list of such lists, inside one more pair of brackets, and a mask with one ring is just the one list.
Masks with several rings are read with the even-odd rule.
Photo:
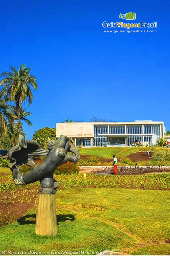
[[[80, 158], [78, 149], [70, 145], [65, 135], [61, 135], [57, 140], [49, 141], [47, 147], [49, 150], [44, 150], [36, 141], [25, 140], [24, 136], [19, 136], [18, 145], [8, 152], [11, 160], [10, 169], [16, 185], [26, 185], [40, 180], [42, 188], [56, 188], [53, 179], [55, 169], [68, 161], [77, 164]], [[47, 156], [47, 158], [42, 164], [35, 164], [34, 156]], [[31, 166], [31, 170], [20, 173], [19, 166], [24, 164]]]

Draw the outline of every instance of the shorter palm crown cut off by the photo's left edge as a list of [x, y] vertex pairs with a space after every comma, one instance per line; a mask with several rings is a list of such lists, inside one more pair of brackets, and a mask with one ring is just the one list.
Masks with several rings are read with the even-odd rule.
[[0, 91], [0, 136], [7, 131], [7, 123], [12, 124], [16, 118], [13, 113], [13, 106], [8, 104], [9, 98]]

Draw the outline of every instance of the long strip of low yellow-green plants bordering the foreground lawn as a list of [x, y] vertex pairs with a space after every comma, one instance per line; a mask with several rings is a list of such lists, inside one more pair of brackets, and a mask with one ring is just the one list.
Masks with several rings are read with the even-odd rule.
[[[159, 189], [170, 190], [170, 173], [159, 173], [150, 175], [96, 175], [83, 173], [72, 175], [54, 175], [59, 183], [60, 189], [70, 188], [134, 188], [134, 189]], [[22, 186], [13, 183], [12, 175], [3, 177], [0, 182], [1, 191], [15, 190]], [[28, 190], [39, 188], [39, 181], [29, 184], [25, 188]], [[23, 187], [22, 187], [23, 188]], [[24, 195], [25, 196], [25, 195]]]

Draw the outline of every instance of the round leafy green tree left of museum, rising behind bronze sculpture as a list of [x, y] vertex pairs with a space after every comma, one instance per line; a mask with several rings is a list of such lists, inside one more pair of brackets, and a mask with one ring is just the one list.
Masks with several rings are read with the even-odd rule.
[[48, 140], [55, 140], [56, 138], [56, 129], [44, 127], [42, 129], [37, 130], [34, 132], [33, 140], [36, 140], [42, 148], [47, 149], [47, 141]]

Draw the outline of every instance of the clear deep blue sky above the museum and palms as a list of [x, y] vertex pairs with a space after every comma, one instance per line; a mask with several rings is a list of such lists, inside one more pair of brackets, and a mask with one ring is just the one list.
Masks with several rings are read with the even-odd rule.
[[[168, 0], [3, 0], [1, 10], [0, 73], [25, 63], [37, 77], [27, 139], [92, 116], [164, 121], [170, 130]], [[103, 21], [128, 23], [118, 18], [126, 12], [136, 12], [130, 23], [157, 21], [157, 33], [104, 33]]]

